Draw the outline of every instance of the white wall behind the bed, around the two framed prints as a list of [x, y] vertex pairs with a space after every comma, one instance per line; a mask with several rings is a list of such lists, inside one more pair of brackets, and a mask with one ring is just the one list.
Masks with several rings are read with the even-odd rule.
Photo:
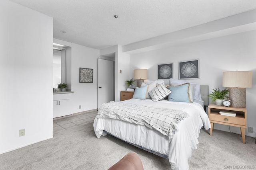
[[[247, 125], [256, 130], [256, 31], [248, 31], [224, 37], [208, 39], [186, 45], [169, 47], [130, 55], [130, 70], [147, 68], [148, 79], [156, 80], [157, 64], [174, 63], [173, 78], [178, 78], [178, 62], [199, 59], [200, 79], [191, 80], [198, 84], [209, 85], [209, 91], [222, 87], [224, 71], [244, 70], [253, 72], [253, 86], [246, 89], [248, 109]], [[132, 76], [132, 71], [130, 71]], [[166, 81], [165, 83], [168, 83]], [[238, 127], [230, 127], [240, 133]], [[214, 129], [228, 131], [228, 126], [214, 125]], [[248, 133], [246, 135], [254, 136]]]

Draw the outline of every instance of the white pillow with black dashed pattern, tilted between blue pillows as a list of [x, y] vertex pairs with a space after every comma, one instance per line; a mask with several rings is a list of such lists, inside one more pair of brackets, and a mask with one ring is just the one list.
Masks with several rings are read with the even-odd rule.
[[157, 102], [159, 100], [163, 100], [170, 93], [171, 93], [171, 91], [168, 90], [164, 86], [164, 84], [160, 84], [159, 86], [157, 86], [156, 88], [154, 88], [153, 90], [148, 92], [148, 94], [150, 95], [150, 97], [152, 98], [152, 100], [154, 102]]

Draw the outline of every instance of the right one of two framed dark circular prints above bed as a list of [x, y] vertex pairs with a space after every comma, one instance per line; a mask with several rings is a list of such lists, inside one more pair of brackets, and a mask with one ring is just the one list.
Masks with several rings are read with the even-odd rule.
[[198, 79], [199, 60], [179, 62], [179, 79]]

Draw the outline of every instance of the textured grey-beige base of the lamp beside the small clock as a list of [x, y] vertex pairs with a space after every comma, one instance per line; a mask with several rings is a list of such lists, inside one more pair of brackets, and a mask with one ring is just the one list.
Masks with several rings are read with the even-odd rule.
[[228, 91], [231, 107], [246, 107], [246, 88], [229, 88]]

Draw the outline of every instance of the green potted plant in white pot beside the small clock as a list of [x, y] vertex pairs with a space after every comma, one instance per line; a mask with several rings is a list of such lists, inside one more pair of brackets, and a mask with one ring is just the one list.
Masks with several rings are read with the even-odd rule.
[[226, 90], [226, 88], [224, 90], [218, 89], [212, 89], [213, 92], [211, 94], [209, 94], [208, 96], [210, 97], [210, 99], [212, 100], [212, 102], [216, 101], [216, 105], [222, 105], [223, 103], [223, 99], [228, 98], [227, 94], [228, 94], [228, 90]]

